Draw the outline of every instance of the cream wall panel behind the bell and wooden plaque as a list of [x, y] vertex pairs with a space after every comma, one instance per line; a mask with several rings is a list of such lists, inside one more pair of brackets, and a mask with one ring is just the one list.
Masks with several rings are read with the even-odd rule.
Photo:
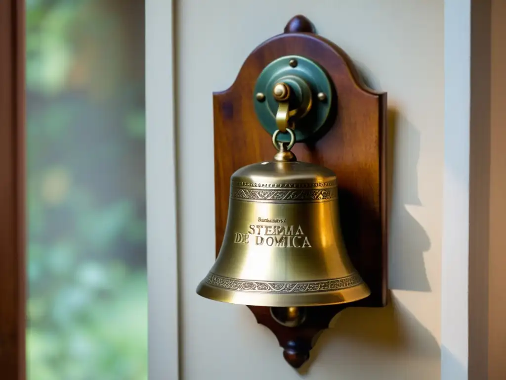
[[[245, 308], [198, 297], [214, 260], [212, 92], [302, 13], [388, 92], [393, 130], [388, 308], [346, 310], [312, 352], [307, 379], [440, 377], [444, 137], [443, 1], [185, 0], [175, 10], [180, 372], [296, 379]], [[170, 149], [170, 146], [167, 146]], [[203, 191], [205, 189], [205, 191]]]

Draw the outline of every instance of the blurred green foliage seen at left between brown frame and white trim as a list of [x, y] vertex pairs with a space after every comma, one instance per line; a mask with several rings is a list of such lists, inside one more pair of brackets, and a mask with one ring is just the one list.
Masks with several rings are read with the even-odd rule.
[[144, 2], [26, 11], [28, 378], [145, 380]]

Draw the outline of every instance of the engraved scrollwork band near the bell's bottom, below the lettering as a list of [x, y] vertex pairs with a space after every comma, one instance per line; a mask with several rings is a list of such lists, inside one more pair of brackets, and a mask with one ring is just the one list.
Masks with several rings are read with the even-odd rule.
[[362, 283], [362, 279], [358, 273], [354, 273], [347, 277], [335, 278], [325, 281], [263, 282], [238, 280], [209, 273], [205, 278], [205, 282], [209, 285], [228, 290], [284, 294], [341, 290], [360, 285]]

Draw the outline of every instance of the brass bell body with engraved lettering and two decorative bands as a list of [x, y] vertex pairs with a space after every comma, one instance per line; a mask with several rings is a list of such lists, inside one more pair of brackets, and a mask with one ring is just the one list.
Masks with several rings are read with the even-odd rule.
[[223, 244], [197, 293], [243, 305], [297, 307], [370, 294], [341, 235], [335, 174], [304, 162], [265, 162], [231, 178]]

